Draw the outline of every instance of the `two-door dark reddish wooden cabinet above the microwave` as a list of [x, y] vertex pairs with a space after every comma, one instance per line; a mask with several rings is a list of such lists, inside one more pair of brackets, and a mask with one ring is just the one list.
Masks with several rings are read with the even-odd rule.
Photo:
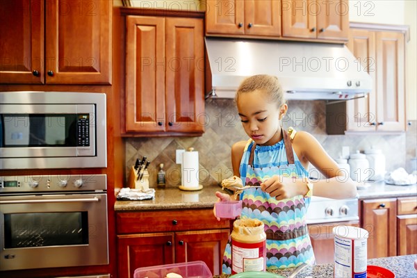
[[110, 84], [106, 0], [6, 0], [0, 6], [0, 83]]

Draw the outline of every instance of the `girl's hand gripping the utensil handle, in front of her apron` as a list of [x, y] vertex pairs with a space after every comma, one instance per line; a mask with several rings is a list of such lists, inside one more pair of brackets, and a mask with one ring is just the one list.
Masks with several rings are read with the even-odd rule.
[[308, 191], [306, 183], [302, 179], [278, 175], [274, 175], [261, 183], [261, 189], [277, 200], [292, 198]]

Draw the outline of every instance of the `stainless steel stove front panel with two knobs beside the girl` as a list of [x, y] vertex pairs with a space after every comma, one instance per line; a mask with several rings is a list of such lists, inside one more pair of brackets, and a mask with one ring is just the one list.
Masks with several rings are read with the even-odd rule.
[[306, 214], [307, 224], [358, 221], [358, 199], [329, 199], [311, 197]]

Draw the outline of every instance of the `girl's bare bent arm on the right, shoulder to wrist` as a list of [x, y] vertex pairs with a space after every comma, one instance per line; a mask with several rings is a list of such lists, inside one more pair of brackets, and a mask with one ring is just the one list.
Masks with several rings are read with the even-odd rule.
[[[355, 197], [357, 195], [357, 183], [347, 177], [337, 163], [322, 148], [320, 142], [310, 133], [300, 131], [293, 141], [294, 149], [304, 167], [308, 169], [308, 163], [313, 164], [327, 179], [313, 181], [313, 195], [333, 199]], [[307, 190], [306, 184], [301, 186]]]

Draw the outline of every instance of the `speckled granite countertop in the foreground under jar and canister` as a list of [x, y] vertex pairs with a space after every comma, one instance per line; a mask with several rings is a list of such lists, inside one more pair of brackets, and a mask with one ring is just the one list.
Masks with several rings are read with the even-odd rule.
[[[395, 274], [395, 278], [410, 278], [417, 277], [417, 270], [414, 269], [414, 260], [417, 259], [417, 255], [407, 256], [390, 256], [379, 259], [369, 259], [368, 265], [379, 265], [384, 268], [388, 268]], [[285, 270], [268, 270], [284, 277], [293, 272], [295, 268], [286, 268]], [[213, 278], [226, 278], [230, 275], [215, 275]], [[324, 265], [314, 265], [304, 268], [298, 273], [296, 278], [333, 278], [333, 263], [327, 263]], [[336, 277], [344, 278], [344, 277]]]

